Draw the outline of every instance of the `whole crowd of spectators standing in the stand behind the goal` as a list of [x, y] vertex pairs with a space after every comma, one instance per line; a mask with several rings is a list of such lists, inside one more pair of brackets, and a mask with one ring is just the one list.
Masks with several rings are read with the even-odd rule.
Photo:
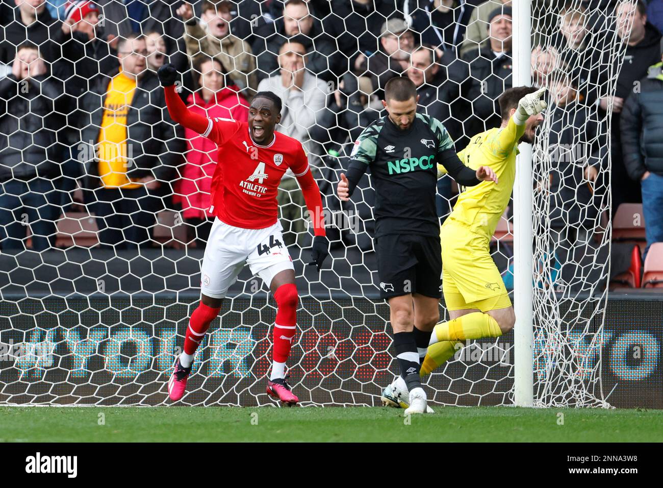
[[[532, 80], [550, 90], [559, 160], [534, 184], [549, 196], [553, 240], [591, 238], [607, 209], [608, 153], [613, 210], [645, 197], [648, 241], [663, 240], [663, 0], [540, 0], [532, 11]], [[457, 150], [499, 125], [497, 98], [512, 86], [511, 1], [2, 0], [0, 13], [3, 250], [27, 248], [30, 235], [33, 250], [54, 246], [74, 207], [96, 220], [101, 247], [160, 245], [166, 210], [182, 216], [186, 245], [204, 245], [217, 153], [170, 120], [164, 62], [183, 74], [182, 99], [210, 117], [243, 120], [257, 91], [276, 93], [277, 129], [302, 141], [321, 179], [383, 114], [394, 76], [414, 82], [420, 112]], [[279, 201], [292, 244], [306, 222], [288, 176]], [[444, 218], [455, 189], [444, 177], [438, 190]]]

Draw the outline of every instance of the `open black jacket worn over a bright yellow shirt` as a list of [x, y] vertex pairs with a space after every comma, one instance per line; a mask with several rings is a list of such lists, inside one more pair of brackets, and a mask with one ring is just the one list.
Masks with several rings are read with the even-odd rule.
[[[110, 76], [115, 74], [117, 72]], [[95, 152], [90, 143], [96, 145], [98, 142], [108, 83], [108, 79], [97, 83], [84, 96], [82, 110], [77, 114], [81, 139], [78, 145], [72, 147], [72, 157], [83, 164], [85, 186], [88, 189], [95, 189], [101, 183], [97, 161], [93, 159]], [[131, 101], [127, 114], [127, 143], [131, 148], [131, 166], [127, 170], [127, 177], [152, 175], [162, 181], [164, 187], [176, 175], [177, 167], [184, 163], [184, 129], [172, 122], [166, 108], [164, 90], [151, 72], [146, 72], [139, 80]]]

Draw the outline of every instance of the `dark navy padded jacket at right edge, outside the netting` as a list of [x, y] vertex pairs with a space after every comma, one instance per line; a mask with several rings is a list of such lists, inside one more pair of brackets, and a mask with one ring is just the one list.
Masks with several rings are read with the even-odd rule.
[[658, 63], [640, 82], [640, 92], [624, 104], [621, 116], [624, 164], [640, 181], [645, 171], [663, 176], [663, 75]]

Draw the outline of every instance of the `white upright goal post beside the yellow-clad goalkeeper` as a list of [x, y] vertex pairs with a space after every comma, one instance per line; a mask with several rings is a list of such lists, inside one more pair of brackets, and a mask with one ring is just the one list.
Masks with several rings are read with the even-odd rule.
[[[532, 84], [531, 0], [512, 1], [513, 86]], [[532, 146], [519, 145], [513, 191], [514, 272], [514, 404], [534, 404], [532, 345], [534, 304], [532, 290]]]

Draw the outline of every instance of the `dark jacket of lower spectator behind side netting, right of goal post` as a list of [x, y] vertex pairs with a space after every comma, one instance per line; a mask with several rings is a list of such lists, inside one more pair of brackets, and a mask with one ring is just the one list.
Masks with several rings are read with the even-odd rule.
[[[550, 225], [554, 228], [595, 228], [603, 210], [607, 181], [607, 140], [599, 127], [596, 108], [573, 102], [564, 107], [552, 105], [546, 112], [550, 123], [548, 156], [540, 161], [546, 174], [540, 175], [550, 185]], [[593, 183], [585, 178], [585, 167], [593, 166], [599, 176]], [[545, 180], [548, 179], [546, 182]], [[544, 208], [544, 207], [542, 207]]]

